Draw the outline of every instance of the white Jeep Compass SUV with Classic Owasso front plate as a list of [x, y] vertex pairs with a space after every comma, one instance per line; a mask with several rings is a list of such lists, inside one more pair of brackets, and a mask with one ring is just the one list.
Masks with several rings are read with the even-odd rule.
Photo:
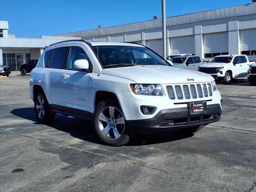
[[136, 132], [196, 132], [220, 120], [212, 76], [170, 66], [146, 46], [68, 40], [44, 50], [30, 75], [39, 123], [56, 113], [93, 121], [98, 137], [121, 146]]

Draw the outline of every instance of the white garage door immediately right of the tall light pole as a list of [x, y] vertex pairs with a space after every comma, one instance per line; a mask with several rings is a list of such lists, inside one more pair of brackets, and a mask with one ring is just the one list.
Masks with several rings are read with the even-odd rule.
[[171, 38], [171, 54], [195, 53], [194, 36], [183, 36]]

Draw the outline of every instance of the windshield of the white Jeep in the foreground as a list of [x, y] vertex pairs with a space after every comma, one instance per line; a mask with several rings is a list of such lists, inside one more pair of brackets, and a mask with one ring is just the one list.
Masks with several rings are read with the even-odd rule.
[[[93, 49], [97, 54], [97, 46], [93, 46]], [[107, 45], [98, 46], [98, 52], [104, 68], [133, 65], [170, 66], [168, 62], [145, 47]]]

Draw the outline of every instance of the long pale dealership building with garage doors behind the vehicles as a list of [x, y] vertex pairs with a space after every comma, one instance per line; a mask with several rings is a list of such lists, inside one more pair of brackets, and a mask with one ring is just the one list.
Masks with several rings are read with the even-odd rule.
[[[6, 36], [2, 26], [1, 22], [1, 64], [10, 65], [7, 60], [7, 56], [12, 60], [10, 54], [22, 53], [23, 61], [26, 61], [26, 58], [39, 58], [52, 42], [81, 38], [86, 41], [137, 42], [162, 55], [161, 19], [38, 39]], [[256, 60], [256, 3], [168, 17], [166, 37], [167, 55], [190, 53], [212, 58], [221, 54], [246, 54], [249, 60]], [[20, 57], [16, 55], [16, 59]]]

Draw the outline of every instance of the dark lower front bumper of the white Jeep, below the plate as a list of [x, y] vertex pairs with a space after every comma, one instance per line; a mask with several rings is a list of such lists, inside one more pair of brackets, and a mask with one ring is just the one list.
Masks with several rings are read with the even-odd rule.
[[144, 120], [128, 120], [127, 124], [130, 128], [137, 131], [156, 131], [179, 129], [200, 125], [220, 120], [221, 106], [220, 104], [207, 105], [207, 113], [200, 116], [190, 116], [187, 108], [174, 108], [161, 110], [150, 119]]

